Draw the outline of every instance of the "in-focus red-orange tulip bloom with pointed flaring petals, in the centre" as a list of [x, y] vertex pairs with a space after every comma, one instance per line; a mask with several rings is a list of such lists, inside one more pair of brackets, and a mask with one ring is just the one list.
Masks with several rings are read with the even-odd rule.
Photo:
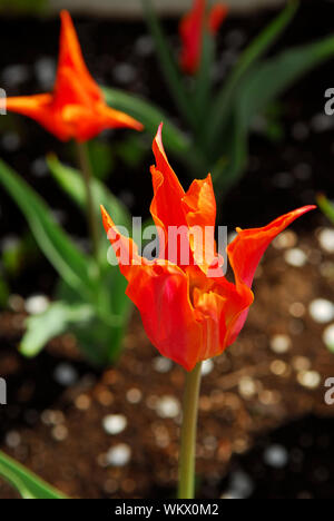
[[[235, 342], [254, 299], [250, 287], [264, 252], [283, 229], [314, 206], [284, 215], [264, 228], [238, 228], [237, 238], [227, 248], [235, 276], [232, 284], [217, 267], [214, 238], [206, 244], [208, 252], [203, 256], [202, 240], [191, 237], [196, 227], [215, 226], [216, 201], [210, 176], [195, 180], [185, 193], [166, 157], [161, 127], [154, 141], [154, 154], [150, 212], [160, 230], [159, 258], [140, 257], [136, 244], [118, 233], [105, 208], [104, 226], [129, 283], [127, 295], [138, 307], [149, 340], [164, 356], [190, 371], [199, 361], [219, 355]], [[188, 264], [166, 259], [175, 226], [188, 230]], [[200, 260], [203, 257], [206, 262]], [[215, 265], [215, 276], [210, 276], [209, 268]]]

